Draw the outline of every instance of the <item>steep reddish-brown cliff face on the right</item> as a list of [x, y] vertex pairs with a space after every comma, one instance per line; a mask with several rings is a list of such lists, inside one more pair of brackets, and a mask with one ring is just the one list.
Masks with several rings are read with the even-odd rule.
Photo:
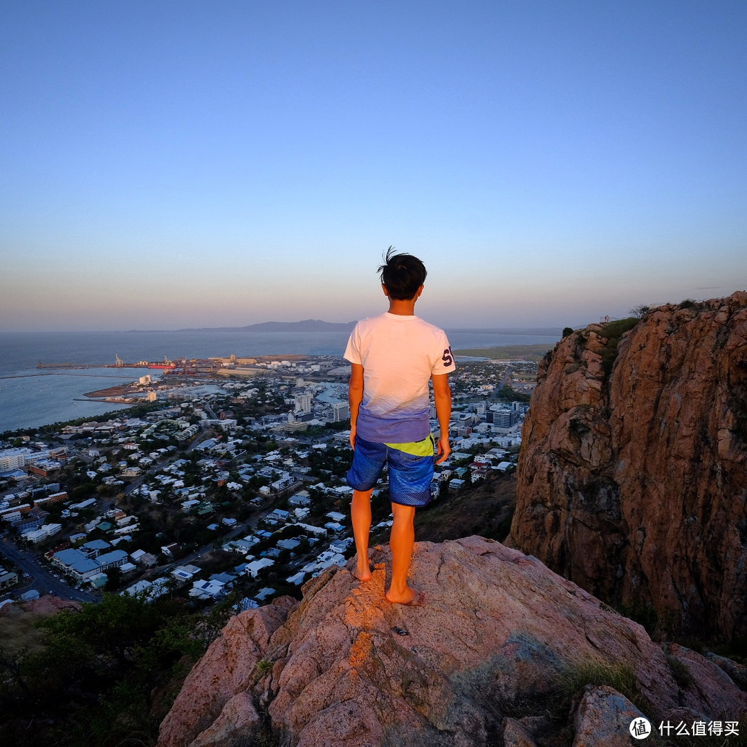
[[747, 635], [747, 293], [654, 309], [616, 356], [610, 329], [540, 369], [511, 542], [675, 630]]

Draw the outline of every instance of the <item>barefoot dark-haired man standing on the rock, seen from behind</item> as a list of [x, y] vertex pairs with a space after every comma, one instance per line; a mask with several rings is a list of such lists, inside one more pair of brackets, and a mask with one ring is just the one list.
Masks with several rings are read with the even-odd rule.
[[[453, 354], [442, 329], [415, 316], [415, 302], [423, 292], [424, 264], [389, 247], [379, 267], [389, 310], [356, 324], [345, 350], [353, 366], [350, 401], [350, 445], [353, 465], [347, 482], [353, 488], [353, 535], [356, 539], [355, 576], [371, 579], [368, 535], [371, 530], [371, 492], [388, 465], [391, 526], [391, 583], [386, 592], [394, 604], [419, 605], [424, 595], [407, 583], [415, 546], [415, 509], [431, 500], [433, 465], [449, 456]], [[430, 397], [440, 427], [438, 444], [430, 435]], [[438, 461], [436, 461], [436, 450]]]

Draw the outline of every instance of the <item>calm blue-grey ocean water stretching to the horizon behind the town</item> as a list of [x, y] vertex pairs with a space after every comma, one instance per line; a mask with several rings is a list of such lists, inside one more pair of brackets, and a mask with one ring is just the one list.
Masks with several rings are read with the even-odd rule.
[[[557, 335], [506, 334], [495, 330], [449, 332], [454, 350], [503, 345], [554, 345]], [[5, 430], [102, 415], [124, 405], [81, 401], [87, 391], [143, 376], [142, 368], [37, 368], [42, 362], [111, 365], [181, 358], [302, 354], [341, 356], [347, 331], [257, 332], [199, 329], [184, 332], [4, 332], [0, 333], [0, 433]], [[147, 371], [158, 375], [158, 371]]]

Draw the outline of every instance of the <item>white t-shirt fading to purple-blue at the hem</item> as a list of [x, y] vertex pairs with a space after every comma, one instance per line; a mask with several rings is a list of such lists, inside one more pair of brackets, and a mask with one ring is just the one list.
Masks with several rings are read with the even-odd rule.
[[430, 377], [456, 369], [443, 329], [387, 311], [356, 324], [345, 358], [363, 366], [360, 438], [401, 444], [428, 436]]

